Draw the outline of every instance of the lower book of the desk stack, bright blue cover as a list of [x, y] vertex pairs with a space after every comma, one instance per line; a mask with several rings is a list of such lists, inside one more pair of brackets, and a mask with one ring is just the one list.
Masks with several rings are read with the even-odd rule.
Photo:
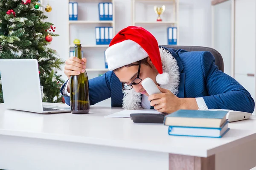
[[183, 127], [183, 126], [169, 126], [169, 135], [174, 136], [195, 136], [195, 137], [212, 137], [221, 138], [227, 133], [230, 128], [228, 127], [228, 121], [219, 128], [212, 127]]

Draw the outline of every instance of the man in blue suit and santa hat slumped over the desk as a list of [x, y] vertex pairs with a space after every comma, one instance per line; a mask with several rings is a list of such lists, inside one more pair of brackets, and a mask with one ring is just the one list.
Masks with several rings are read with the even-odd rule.
[[[116, 34], [105, 54], [110, 71], [89, 80], [90, 105], [111, 97], [111, 106], [124, 109], [254, 111], [250, 93], [220, 71], [208, 51], [164, 48], [144, 28], [129, 26]], [[67, 77], [84, 72], [86, 62], [85, 58], [67, 59]], [[147, 94], [141, 85], [146, 77], [153, 79], [161, 94]], [[70, 105], [69, 81], [61, 94]]]

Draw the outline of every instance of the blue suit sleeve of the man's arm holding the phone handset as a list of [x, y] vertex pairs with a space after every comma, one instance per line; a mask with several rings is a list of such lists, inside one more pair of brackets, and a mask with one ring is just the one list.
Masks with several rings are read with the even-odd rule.
[[230, 109], [253, 113], [254, 100], [250, 93], [235, 79], [215, 65], [215, 58], [208, 51], [201, 55], [206, 88], [209, 96], [204, 101], [209, 109]]

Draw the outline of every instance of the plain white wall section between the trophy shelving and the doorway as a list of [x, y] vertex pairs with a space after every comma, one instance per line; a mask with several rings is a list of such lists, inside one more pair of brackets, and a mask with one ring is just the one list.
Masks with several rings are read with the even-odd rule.
[[211, 47], [211, 0], [180, 0], [180, 45]]

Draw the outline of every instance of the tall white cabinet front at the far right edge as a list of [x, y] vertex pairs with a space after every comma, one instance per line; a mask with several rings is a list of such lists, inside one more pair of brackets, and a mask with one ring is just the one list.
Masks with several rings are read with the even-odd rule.
[[235, 3], [235, 79], [255, 100], [256, 1], [236, 0]]

